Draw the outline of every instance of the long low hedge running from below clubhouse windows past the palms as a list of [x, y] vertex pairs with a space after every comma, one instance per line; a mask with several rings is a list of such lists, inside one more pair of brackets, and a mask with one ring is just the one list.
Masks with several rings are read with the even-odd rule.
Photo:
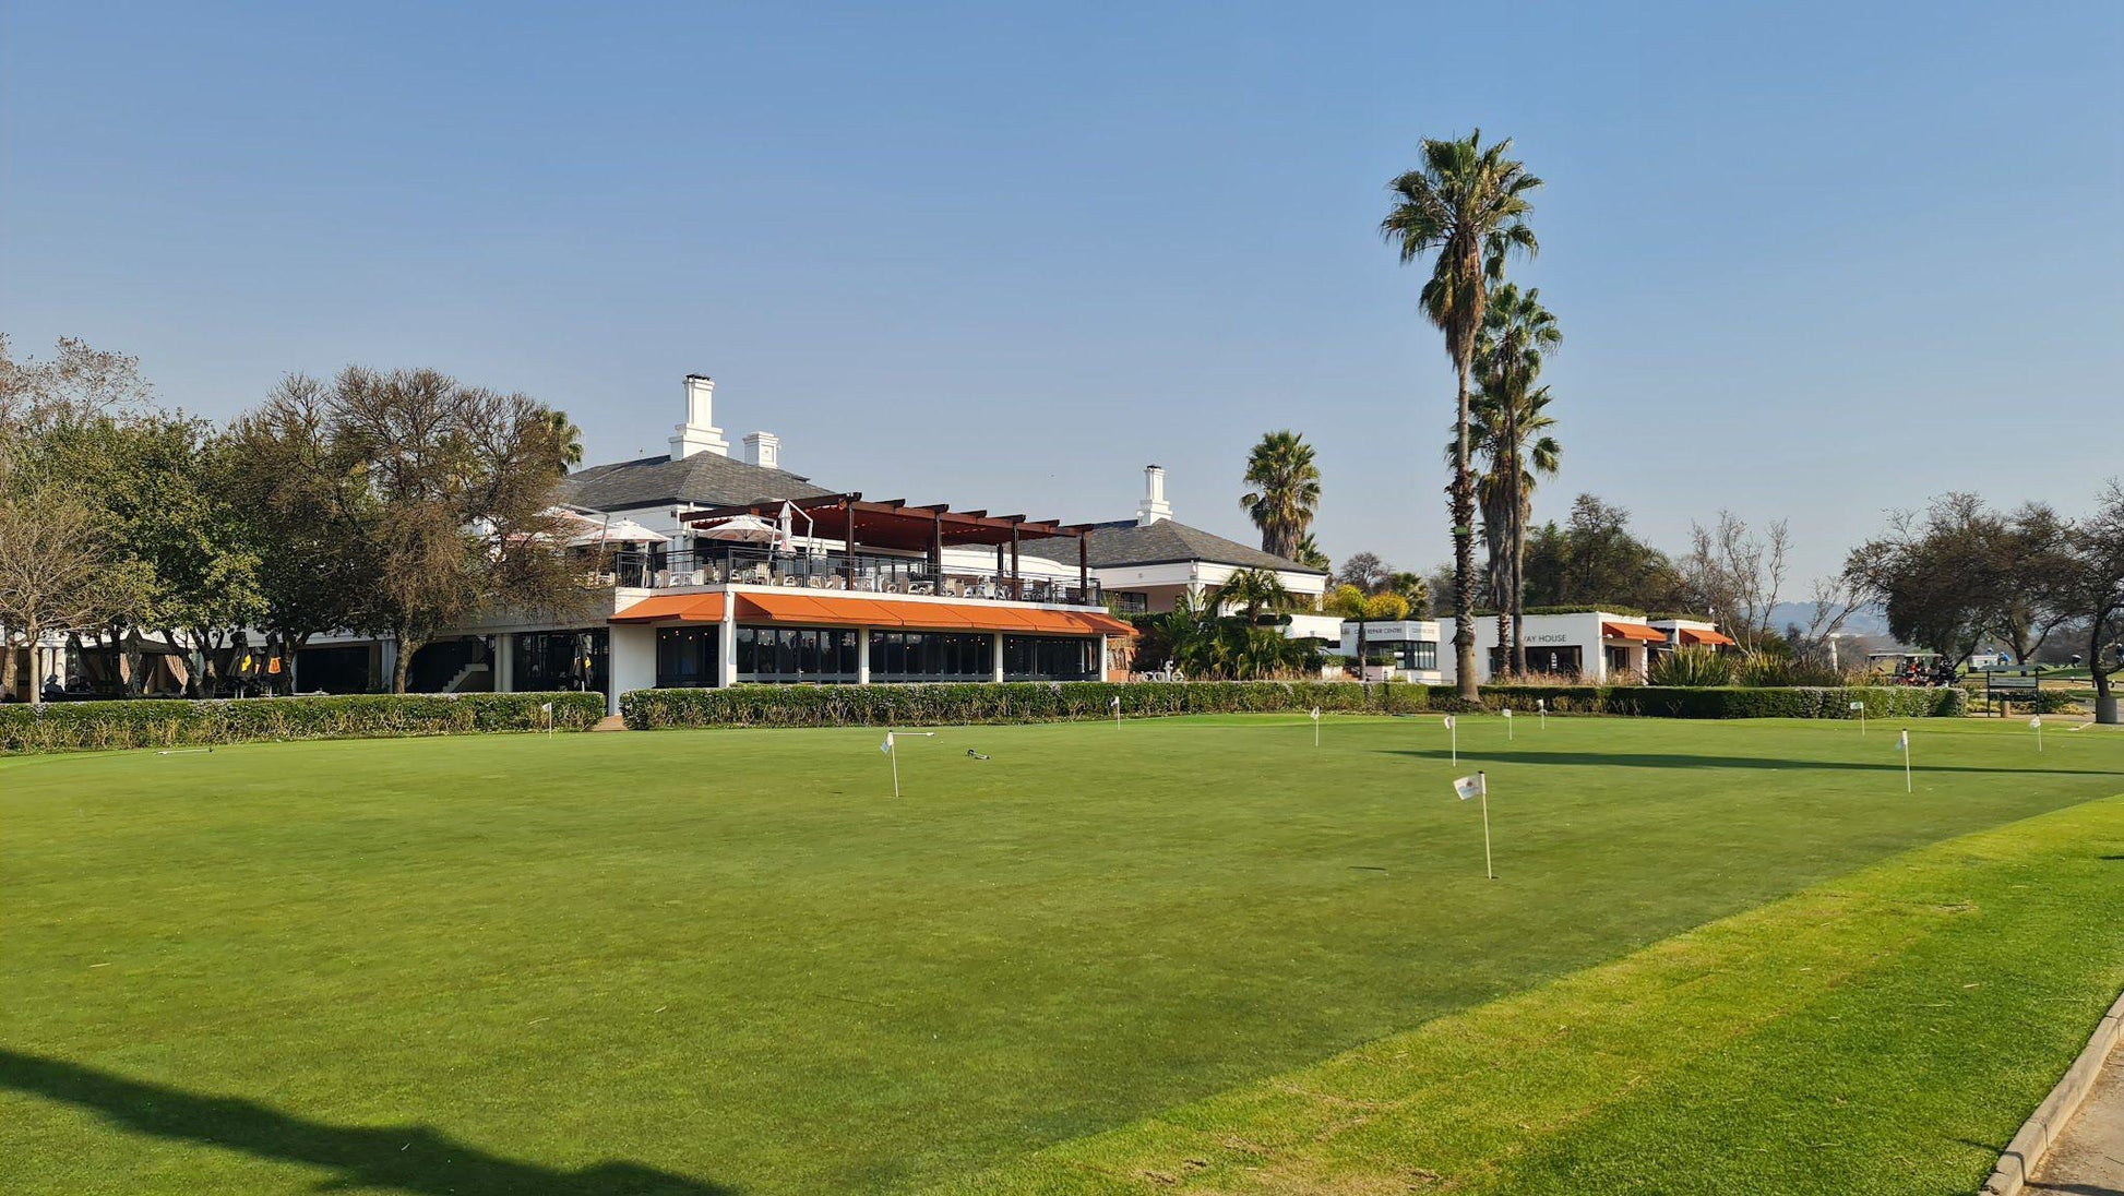
[[[1066, 722], [1164, 714], [1323, 712], [1415, 714], [1461, 710], [1451, 686], [1370, 686], [1355, 682], [1011, 682], [909, 686], [737, 686], [669, 688], [620, 695], [633, 731], [665, 727], [924, 727], [943, 722]], [[1485, 686], [1476, 710], [1625, 714], [1650, 718], [1871, 718], [1958, 716], [1954, 688], [1657, 688], [1657, 686]]]

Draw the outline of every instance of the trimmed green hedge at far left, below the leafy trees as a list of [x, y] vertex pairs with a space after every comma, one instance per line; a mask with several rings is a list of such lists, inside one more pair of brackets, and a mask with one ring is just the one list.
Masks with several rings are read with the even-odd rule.
[[548, 701], [556, 731], [586, 731], [605, 716], [599, 693], [55, 701], [0, 705], [0, 752], [544, 731]]

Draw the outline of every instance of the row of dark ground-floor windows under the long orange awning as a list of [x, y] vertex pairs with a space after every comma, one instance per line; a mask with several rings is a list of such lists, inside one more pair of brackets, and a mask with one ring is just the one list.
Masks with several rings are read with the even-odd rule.
[[[845, 627], [739, 627], [741, 682], [854, 682], [860, 631]], [[656, 629], [656, 686], [714, 686], [718, 629]], [[994, 637], [966, 631], [871, 631], [873, 682], [986, 682], [994, 676]], [[1003, 637], [1005, 680], [1075, 682], [1098, 678], [1098, 639]]]

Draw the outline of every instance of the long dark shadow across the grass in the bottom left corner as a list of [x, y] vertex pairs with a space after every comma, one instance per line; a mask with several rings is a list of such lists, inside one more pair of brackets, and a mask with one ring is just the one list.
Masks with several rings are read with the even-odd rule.
[[66, 1060], [0, 1047], [0, 1088], [64, 1100], [136, 1134], [178, 1139], [276, 1162], [331, 1168], [325, 1188], [433, 1196], [735, 1196], [637, 1162], [554, 1171], [484, 1154], [427, 1126], [327, 1126], [255, 1100], [202, 1096]]

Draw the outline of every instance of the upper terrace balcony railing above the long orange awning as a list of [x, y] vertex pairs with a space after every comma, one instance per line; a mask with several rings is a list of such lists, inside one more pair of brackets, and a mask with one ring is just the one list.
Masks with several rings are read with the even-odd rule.
[[[850, 569], [854, 565], [854, 569]], [[620, 550], [593, 576], [599, 584], [631, 588], [673, 586], [790, 586], [873, 595], [935, 595], [986, 601], [1045, 601], [1104, 605], [1098, 580], [1090, 586], [1051, 578], [1017, 578], [1009, 571], [945, 567], [930, 569], [920, 557], [877, 557], [869, 552], [771, 552], [752, 546], [701, 550]]]

